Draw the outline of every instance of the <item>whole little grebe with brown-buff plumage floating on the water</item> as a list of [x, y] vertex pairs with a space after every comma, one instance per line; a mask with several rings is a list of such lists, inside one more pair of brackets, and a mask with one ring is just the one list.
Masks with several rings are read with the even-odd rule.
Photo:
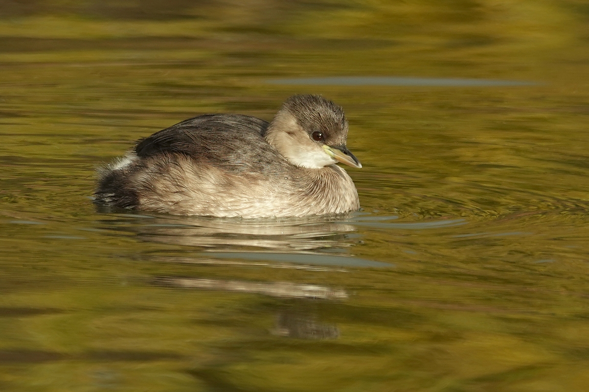
[[139, 140], [98, 170], [98, 205], [176, 215], [284, 217], [358, 210], [337, 162], [362, 167], [346, 148], [342, 108], [294, 95], [268, 123], [244, 115], [184, 120]]

